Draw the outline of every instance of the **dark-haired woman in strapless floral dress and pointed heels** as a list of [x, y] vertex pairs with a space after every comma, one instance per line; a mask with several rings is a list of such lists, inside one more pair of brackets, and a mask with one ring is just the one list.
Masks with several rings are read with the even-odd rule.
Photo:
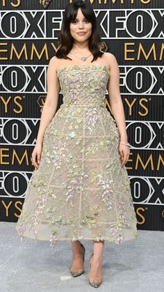
[[[50, 240], [52, 247], [57, 240], [72, 240], [74, 277], [84, 272], [85, 247], [80, 240], [92, 240], [89, 283], [98, 287], [104, 240], [122, 243], [138, 235], [124, 166], [129, 144], [119, 68], [113, 54], [100, 50], [89, 1], [67, 6], [58, 40], [32, 154], [35, 170], [17, 230], [21, 238]], [[106, 88], [117, 127], [104, 107]], [[63, 105], [56, 113], [60, 91]]]

